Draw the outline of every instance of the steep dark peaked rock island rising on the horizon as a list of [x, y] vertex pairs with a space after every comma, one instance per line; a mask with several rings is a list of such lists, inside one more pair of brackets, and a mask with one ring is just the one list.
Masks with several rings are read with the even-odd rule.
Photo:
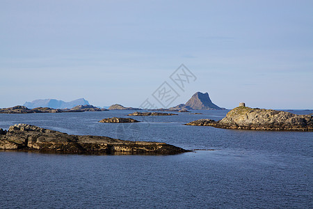
[[188, 109], [225, 109], [218, 107], [209, 98], [208, 93], [195, 93], [186, 104], [178, 104], [175, 107], [170, 107], [169, 110], [188, 110]]

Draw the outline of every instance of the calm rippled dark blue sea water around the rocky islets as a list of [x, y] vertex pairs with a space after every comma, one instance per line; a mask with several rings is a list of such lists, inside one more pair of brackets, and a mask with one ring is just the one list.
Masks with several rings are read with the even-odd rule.
[[0, 207], [313, 207], [313, 132], [183, 125], [200, 118], [219, 120], [227, 111], [132, 117], [142, 123], [97, 123], [111, 116], [126, 117], [131, 112], [0, 114], [0, 127], [29, 123], [68, 134], [163, 141], [197, 150], [168, 156], [1, 151]]

